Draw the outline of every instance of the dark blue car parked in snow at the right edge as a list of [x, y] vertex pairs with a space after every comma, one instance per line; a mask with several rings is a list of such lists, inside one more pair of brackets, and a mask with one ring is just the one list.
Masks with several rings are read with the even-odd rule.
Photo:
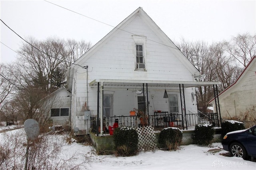
[[223, 137], [222, 146], [233, 156], [243, 159], [248, 156], [256, 158], [256, 125], [249, 129], [227, 133]]

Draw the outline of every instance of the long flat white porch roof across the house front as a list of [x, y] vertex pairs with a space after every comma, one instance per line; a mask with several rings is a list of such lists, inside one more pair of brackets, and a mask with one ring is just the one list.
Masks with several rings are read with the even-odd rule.
[[104, 86], [141, 86], [142, 83], [148, 84], [150, 87], [179, 87], [183, 84], [185, 88], [197, 86], [218, 85], [220, 82], [196, 82], [196, 81], [162, 81], [162, 80], [116, 80], [116, 79], [95, 79], [90, 82], [90, 86], [97, 86], [104, 83]]

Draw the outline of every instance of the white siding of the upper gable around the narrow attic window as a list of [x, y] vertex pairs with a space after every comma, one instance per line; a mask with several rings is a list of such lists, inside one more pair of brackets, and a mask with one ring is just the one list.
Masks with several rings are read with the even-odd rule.
[[[135, 30], [135, 27], [138, 28]], [[156, 43], [146, 40], [147, 71], [135, 70], [134, 41], [132, 35], [124, 31], [119, 31], [115, 37], [112, 37], [110, 41], [83, 64], [89, 66], [89, 82], [96, 78], [193, 81], [192, 74], [188, 69], [172, 54], [168, 47], [160, 44], [163, 42], [158, 39], [157, 35], [147, 25], [143, 24], [143, 21], [139, 17], [133, 20], [126, 27], [126, 30], [159, 42]], [[78, 72], [85, 72], [85, 70], [79, 68]], [[82, 81], [84, 81], [84, 78], [82, 78]], [[77, 83], [80, 82], [80, 76], [78, 76]]]

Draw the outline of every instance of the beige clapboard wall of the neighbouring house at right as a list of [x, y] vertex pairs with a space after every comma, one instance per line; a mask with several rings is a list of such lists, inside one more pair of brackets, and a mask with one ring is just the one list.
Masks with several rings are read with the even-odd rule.
[[[218, 95], [218, 99], [222, 119], [239, 117], [240, 113], [256, 107], [256, 56], [252, 57], [236, 81]], [[216, 110], [215, 99], [209, 104]]]

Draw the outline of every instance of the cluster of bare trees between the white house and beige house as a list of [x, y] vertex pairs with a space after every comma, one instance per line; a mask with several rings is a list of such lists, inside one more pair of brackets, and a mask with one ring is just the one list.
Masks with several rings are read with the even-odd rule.
[[[201, 75], [204, 75], [197, 78], [197, 81], [220, 81], [219, 92], [230, 86], [241, 72], [234, 59], [226, 55], [224, 42], [208, 45], [204, 41], [187, 42], [182, 39], [177, 45]], [[214, 97], [213, 87], [197, 87], [196, 97], [198, 109], [206, 112], [208, 101]]]

